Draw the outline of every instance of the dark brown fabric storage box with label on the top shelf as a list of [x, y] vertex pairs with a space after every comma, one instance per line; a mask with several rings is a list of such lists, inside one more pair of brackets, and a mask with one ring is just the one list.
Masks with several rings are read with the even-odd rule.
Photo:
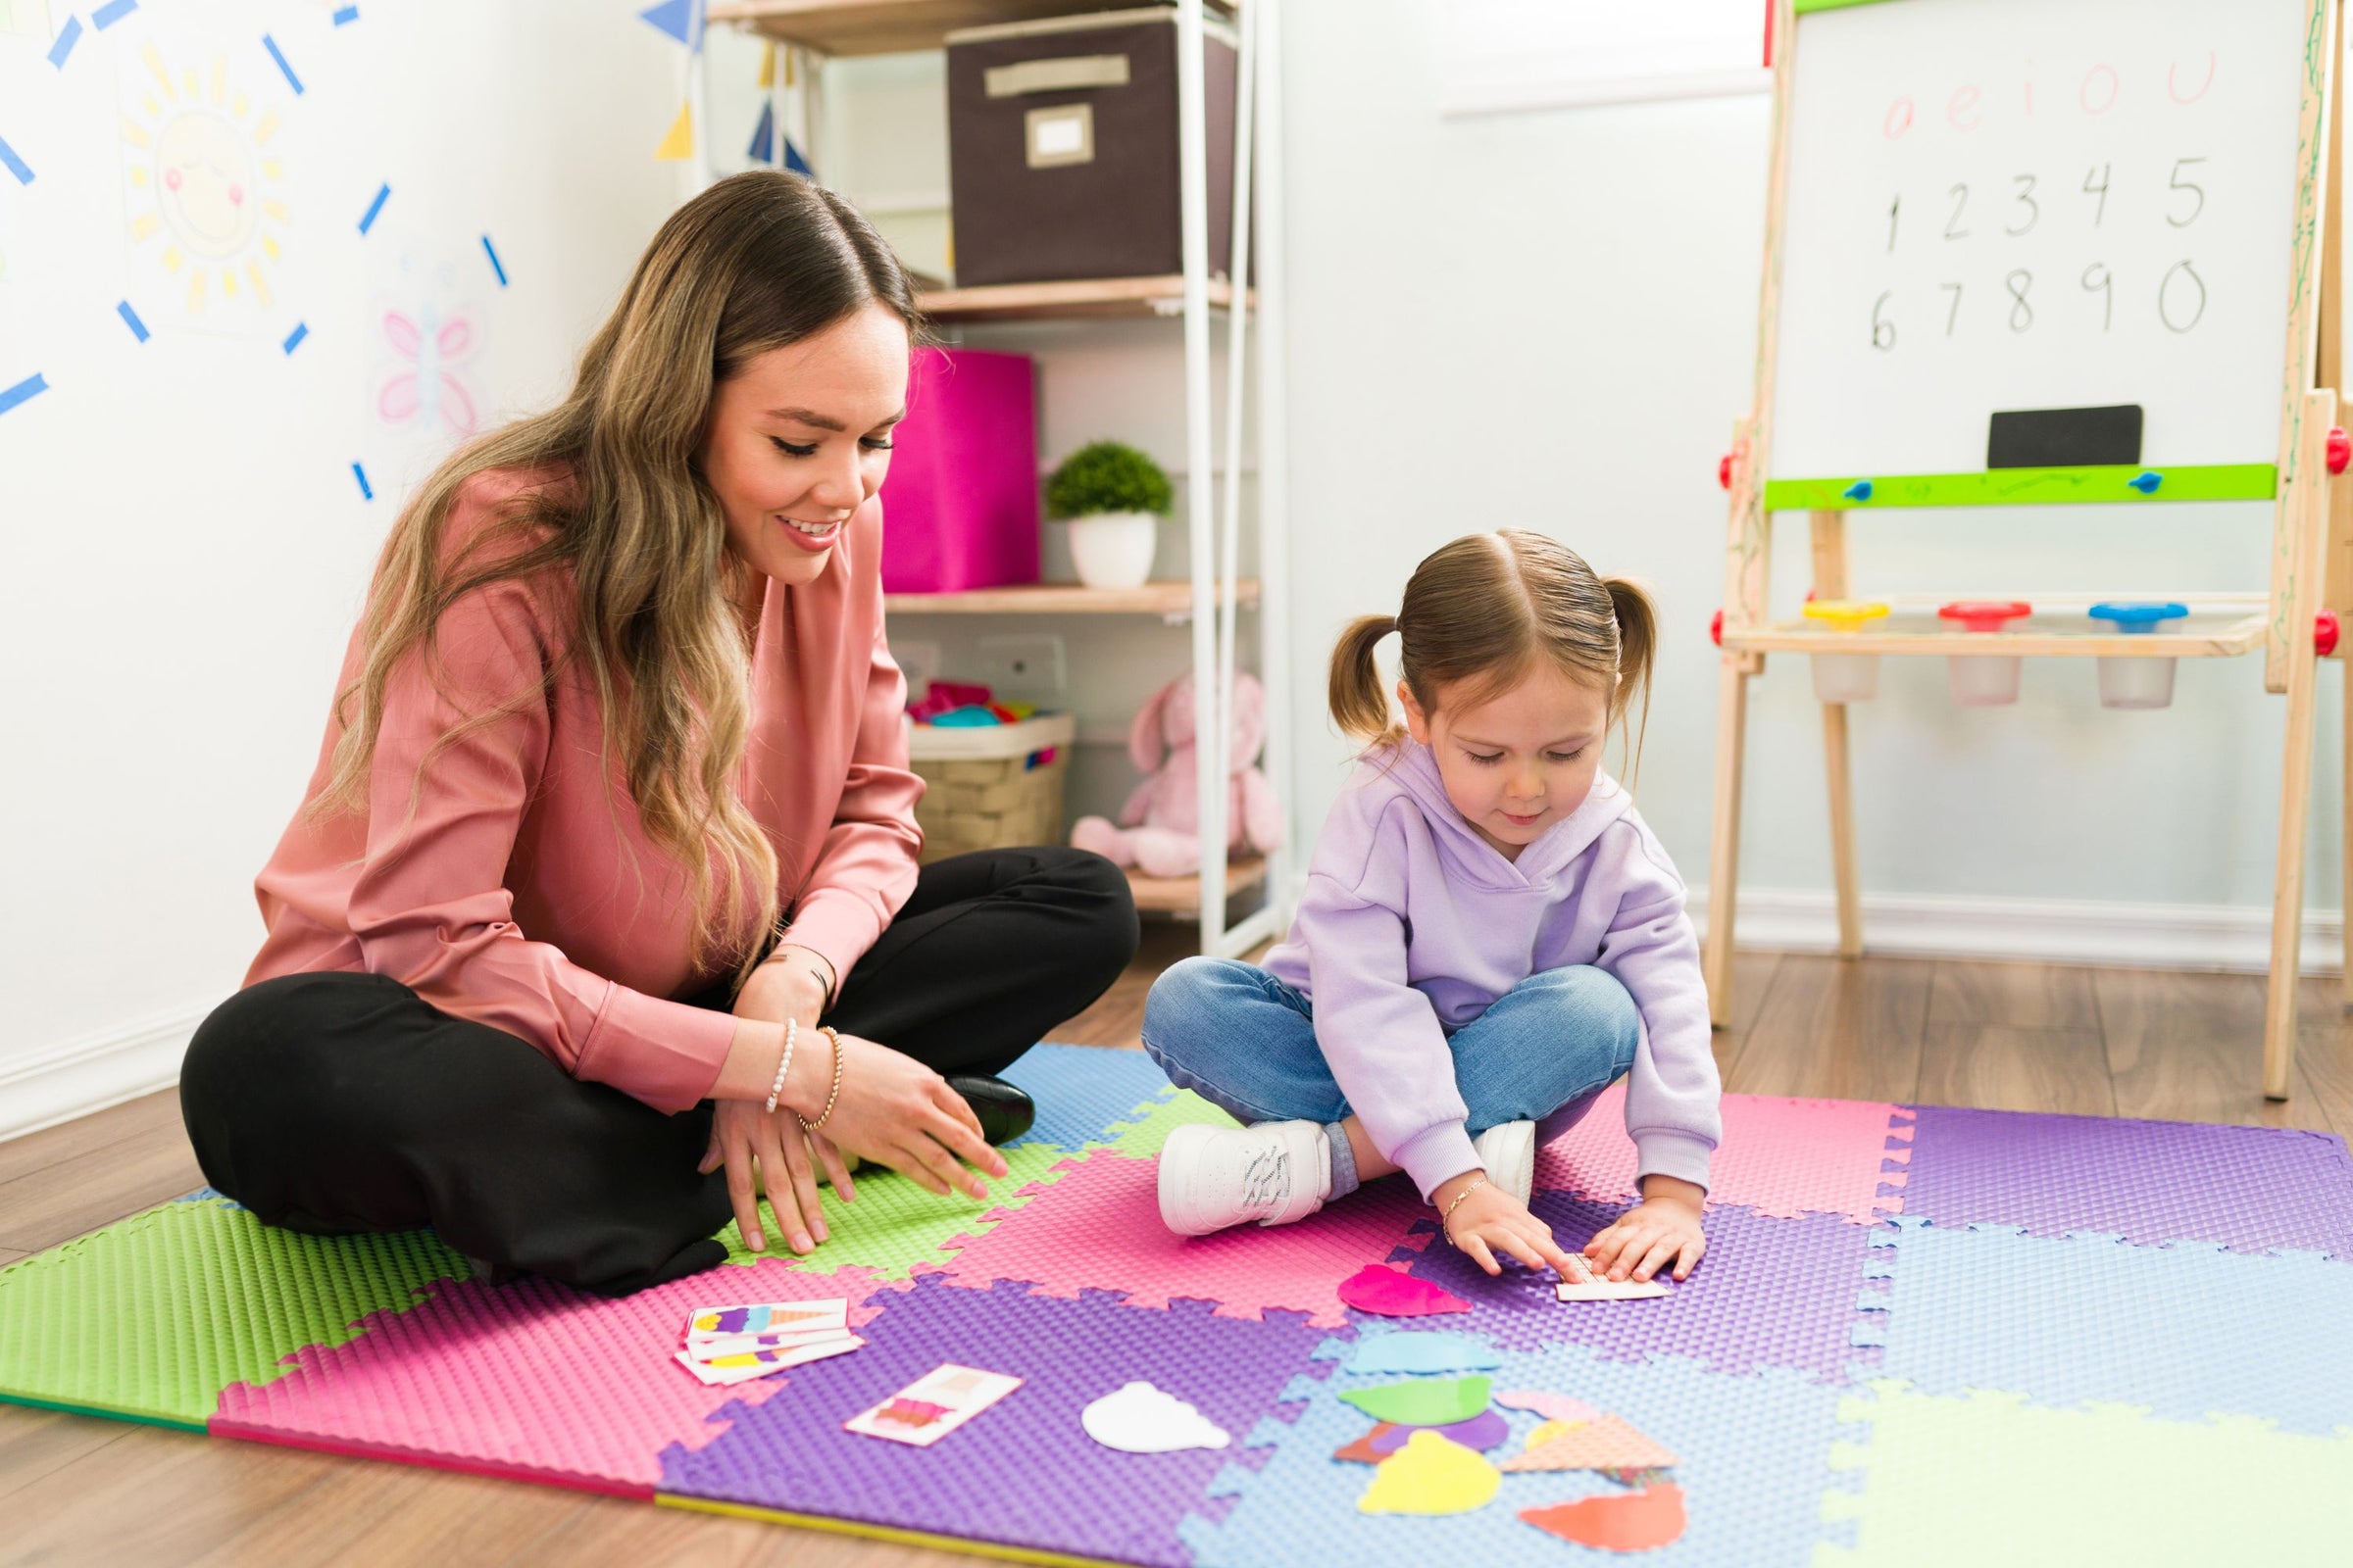
[[[1209, 273], [1233, 259], [1235, 40], [1207, 33]], [[955, 284], [1184, 270], [1176, 12], [948, 33]]]

